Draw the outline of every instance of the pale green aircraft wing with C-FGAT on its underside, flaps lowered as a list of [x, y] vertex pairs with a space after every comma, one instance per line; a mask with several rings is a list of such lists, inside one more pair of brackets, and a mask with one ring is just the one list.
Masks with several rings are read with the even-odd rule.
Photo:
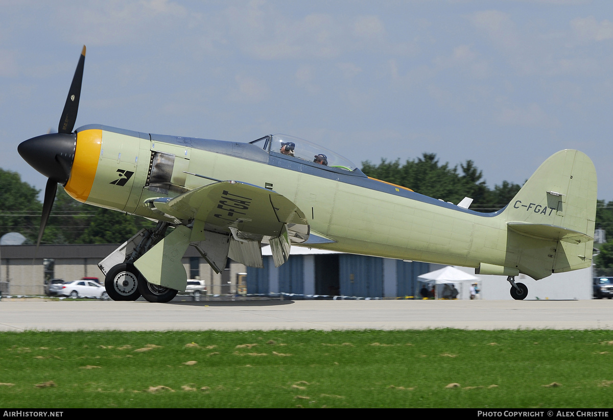
[[269, 242], [275, 265], [281, 265], [289, 257], [291, 244], [301, 244], [309, 238], [310, 225], [294, 203], [279, 193], [246, 182], [215, 182], [178, 197], [154, 198], [149, 203], [175, 219], [194, 220], [192, 242], [201, 240], [199, 234], [202, 238], [207, 236], [205, 231], [231, 233], [235, 242], [230, 244], [230, 257], [240, 253], [246, 262], [253, 261], [254, 253], [259, 254], [259, 243]]

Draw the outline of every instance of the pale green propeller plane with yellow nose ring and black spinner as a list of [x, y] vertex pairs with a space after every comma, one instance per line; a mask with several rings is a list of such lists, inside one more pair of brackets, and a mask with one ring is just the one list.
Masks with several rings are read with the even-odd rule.
[[[181, 264], [194, 246], [220, 272], [226, 259], [275, 266], [291, 246], [473, 267], [506, 276], [511, 296], [535, 280], [592, 264], [596, 173], [582, 152], [541, 165], [516, 197], [493, 213], [368, 178], [342, 156], [300, 138], [250, 143], [87, 125], [74, 130], [85, 47], [58, 133], [23, 141], [20, 155], [47, 178], [37, 243], [57, 185], [75, 200], [156, 220], [99, 263], [112, 299], [167, 302], [186, 288]], [[504, 277], [503, 277], [504, 278]]]

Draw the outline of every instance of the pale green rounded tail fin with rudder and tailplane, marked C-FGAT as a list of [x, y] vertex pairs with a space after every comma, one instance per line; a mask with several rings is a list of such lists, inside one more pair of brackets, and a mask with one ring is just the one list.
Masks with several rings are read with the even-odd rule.
[[[563, 150], [547, 159], [504, 209], [508, 249], [535, 279], [589, 267], [596, 219], [596, 170], [584, 153]], [[522, 238], [541, 239], [525, 249]]]

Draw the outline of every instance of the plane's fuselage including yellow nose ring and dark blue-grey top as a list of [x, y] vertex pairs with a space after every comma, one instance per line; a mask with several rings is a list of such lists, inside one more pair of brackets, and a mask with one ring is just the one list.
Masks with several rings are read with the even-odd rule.
[[[459, 208], [369, 179], [359, 170], [324, 168], [249, 143], [104, 126], [85, 126], [77, 132], [72, 176], [65, 189], [95, 206], [172, 222], [147, 206], [147, 200], [176, 197], [215, 182], [211, 179], [234, 179], [289, 198], [307, 216], [312, 231], [336, 241], [310, 247], [475, 268], [483, 262], [520, 268], [522, 250], [525, 253], [530, 242], [519, 236], [509, 242], [505, 220], [494, 217], [499, 212]], [[554, 217], [547, 217], [553, 222]], [[546, 258], [540, 255], [547, 253], [543, 248], [531, 244], [524, 261]], [[531, 273], [539, 278], [543, 274], [547, 273]]]

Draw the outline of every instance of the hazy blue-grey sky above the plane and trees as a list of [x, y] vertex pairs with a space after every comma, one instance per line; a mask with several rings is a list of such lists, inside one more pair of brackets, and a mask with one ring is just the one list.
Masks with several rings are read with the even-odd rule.
[[0, 167], [37, 189], [17, 145], [57, 130], [83, 45], [75, 127], [435, 153], [490, 188], [578, 149], [613, 200], [609, 0], [0, 0]]

